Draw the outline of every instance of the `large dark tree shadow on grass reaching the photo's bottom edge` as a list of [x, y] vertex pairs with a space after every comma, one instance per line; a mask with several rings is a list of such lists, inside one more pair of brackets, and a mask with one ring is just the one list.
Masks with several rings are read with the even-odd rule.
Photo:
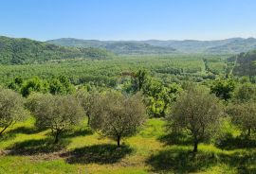
[[214, 154], [198, 152], [196, 155], [190, 150], [166, 149], [152, 155], [146, 163], [153, 167], [154, 172], [188, 173], [196, 172], [204, 167], [217, 163]]

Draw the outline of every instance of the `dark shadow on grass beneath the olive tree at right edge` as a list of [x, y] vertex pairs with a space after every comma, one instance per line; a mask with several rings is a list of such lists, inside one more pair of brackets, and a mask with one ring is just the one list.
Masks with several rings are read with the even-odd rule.
[[217, 148], [236, 149], [236, 148], [256, 148], [256, 140], [247, 136], [233, 137], [232, 134], [226, 134], [215, 143]]

